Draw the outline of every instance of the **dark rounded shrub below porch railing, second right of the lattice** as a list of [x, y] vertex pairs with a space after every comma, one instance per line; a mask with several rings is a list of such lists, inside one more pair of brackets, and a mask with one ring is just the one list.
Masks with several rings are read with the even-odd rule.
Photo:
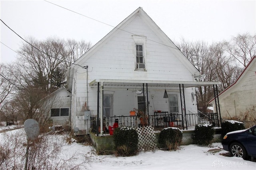
[[213, 135], [214, 129], [212, 125], [199, 124], [196, 125], [192, 138], [198, 145], [209, 145], [212, 143]]

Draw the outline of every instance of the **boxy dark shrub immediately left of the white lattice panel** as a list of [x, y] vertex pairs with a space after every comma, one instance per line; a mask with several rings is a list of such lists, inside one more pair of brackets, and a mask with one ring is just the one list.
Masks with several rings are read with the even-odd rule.
[[134, 156], [138, 152], [138, 133], [129, 127], [114, 130], [114, 144], [117, 156]]

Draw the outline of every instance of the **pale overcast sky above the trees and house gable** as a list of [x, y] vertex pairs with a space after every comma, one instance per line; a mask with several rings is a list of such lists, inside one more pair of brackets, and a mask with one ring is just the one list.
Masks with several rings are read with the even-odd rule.
[[[212, 43], [229, 40], [239, 33], [256, 34], [256, 0], [47, 1], [0, 0], [0, 19], [23, 38], [84, 39], [92, 45], [138, 7], [142, 7], [174, 42], [183, 37], [188, 41]], [[9, 63], [15, 61], [17, 53], [14, 51], [18, 51], [23, 40], [2, 21], [0, 62]]]

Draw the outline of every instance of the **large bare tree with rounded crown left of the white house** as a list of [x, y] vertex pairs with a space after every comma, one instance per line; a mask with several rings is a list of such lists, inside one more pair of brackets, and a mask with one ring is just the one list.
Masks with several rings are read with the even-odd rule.
[[[18, 60], [20, 66], [27, 70], [34, 84], [41, 86], [46, 92], [52, 92], [54, 70], [65, 62], [66, 54], [64, 41], [48, 38], [46, 41], [28, 40], [30, 44], [23, 44]], [[36, 47], [36, 48], [35, 48]], [[65, 70], [67, 68], [64, 68]]]

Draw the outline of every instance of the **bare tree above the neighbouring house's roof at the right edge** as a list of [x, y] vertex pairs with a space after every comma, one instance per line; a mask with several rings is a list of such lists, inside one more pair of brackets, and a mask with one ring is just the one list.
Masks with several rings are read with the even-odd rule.
[[228, 53], [244, 67], [256, 55], [256, 35], [238, 34], [227, 43]]

